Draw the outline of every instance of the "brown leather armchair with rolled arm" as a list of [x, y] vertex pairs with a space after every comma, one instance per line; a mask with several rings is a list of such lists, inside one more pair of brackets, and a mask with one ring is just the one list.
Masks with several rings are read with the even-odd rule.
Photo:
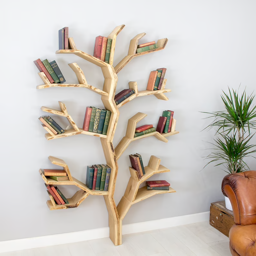
[[235, 224], [229, 231], [233, 256], [256, 255], [256, 171], [228, 174], [222, 192], [230, 199]]

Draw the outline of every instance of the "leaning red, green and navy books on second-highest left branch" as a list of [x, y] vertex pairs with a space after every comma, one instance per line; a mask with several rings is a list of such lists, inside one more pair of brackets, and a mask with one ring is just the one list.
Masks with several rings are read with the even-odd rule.
[[66, 82], [55, 60], [49, 62], [45, 59], [42, 62], [40, 59], [37, 59], [34, 61], [34, 64], [40, 72], [44, 72], [51, 84], [63, 84]]

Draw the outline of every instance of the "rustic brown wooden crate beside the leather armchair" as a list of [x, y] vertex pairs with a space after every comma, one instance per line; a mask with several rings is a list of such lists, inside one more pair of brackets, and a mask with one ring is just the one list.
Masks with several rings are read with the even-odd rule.
[[229, 236], [229, 230], [234, 225], [234, 217], [233, 212], [225, 207], [225, 201], [211, 203], [210, 225]]

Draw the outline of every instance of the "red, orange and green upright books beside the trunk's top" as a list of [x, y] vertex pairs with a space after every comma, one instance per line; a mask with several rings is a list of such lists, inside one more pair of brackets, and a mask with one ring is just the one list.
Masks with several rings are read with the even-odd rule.
[[112, 39], [105, 36], [97, 36], [94, 45], [94, 57], [109, 63]]

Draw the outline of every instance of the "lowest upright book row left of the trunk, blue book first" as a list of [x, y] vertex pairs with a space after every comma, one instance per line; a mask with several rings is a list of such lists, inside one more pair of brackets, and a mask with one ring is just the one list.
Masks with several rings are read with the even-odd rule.
[[106, 164], [87, 166], [85, 185], [92, 190], [108, 191], [111, 168]]

